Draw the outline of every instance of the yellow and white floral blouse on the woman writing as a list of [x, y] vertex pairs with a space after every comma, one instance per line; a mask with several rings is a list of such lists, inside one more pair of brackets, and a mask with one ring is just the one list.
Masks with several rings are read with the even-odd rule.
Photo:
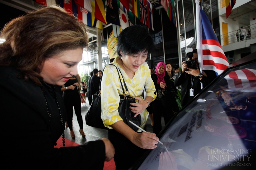
[[[144, 87], [146, 88], [146, 96], [153, 97], [153, 100], [156, 98], [155, 85], [153, 80], [151, 79], [150, 70], [148, 64], [144, 62], [139, 69], [136, 71], [133, 79], [130, 79], [128, 75], [124, 72], [124, 70], [117, 64], [115, 59], [113, 64], [119, 67], [126, 86], [129, 90], [131, 97], [141, 97]], [[123, 120], [117, 111], [119, 106], [120, 97], [119, 95], [123, 94], [122, 86], [119, 80], [119, 76], [116, 70], [116, 67], [113, 65], [107, 65], [102, 73], [102, 81], [101, 81], [101, 119], [106, 127], [112, 129], [110, 127], [112, 124], [116, 123], [119, 120]], [[121, 80], [122, 76], [120, 75]], [[125, 87], [123, 87], [125, 90]], [[141, 114], [141, 128], [144, 128], [146, 125], [146, 121], [148, 119], [148, 112], [145, 109]], [[141, 132], [138, 130], [137, 132]]]

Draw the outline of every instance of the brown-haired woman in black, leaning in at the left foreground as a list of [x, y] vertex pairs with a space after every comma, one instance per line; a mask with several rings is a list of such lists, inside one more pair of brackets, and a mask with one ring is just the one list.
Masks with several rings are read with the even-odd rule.
[[102, 170], [115, 153], [106, 138], [54, 148], [61, 135], [65, 141], [61, 86], [78, 74], [86, 25], [60, 7], [43, 6], [7, 23], [0, 38], [0, 102], [8, 127], [1, 160], [10, 169]]

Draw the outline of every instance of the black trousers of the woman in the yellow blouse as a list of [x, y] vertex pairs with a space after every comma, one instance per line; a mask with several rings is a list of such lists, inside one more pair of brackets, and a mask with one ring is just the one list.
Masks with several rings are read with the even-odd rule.
[[148, 150], [137, 147], [113, 129], [108, 130], [108, 139], [115, 148], [116, 170], [128, 170]]

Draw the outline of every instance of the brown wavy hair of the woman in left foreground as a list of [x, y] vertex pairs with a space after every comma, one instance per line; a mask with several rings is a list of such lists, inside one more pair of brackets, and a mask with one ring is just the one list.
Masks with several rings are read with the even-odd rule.
[[1, 31], [0, 65], [11, 66], [38, 85], [40, 65], [65, 50], [88, 46], [86, 25], [60, 7], [42, 7], [20, 16]]

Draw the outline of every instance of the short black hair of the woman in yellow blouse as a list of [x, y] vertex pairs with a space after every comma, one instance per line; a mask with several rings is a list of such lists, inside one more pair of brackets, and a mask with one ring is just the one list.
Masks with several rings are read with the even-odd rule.
[[117, 54], [123, 55], [148, 52], [150, 54], [155, 49], [153, 38], [149, 34], [146, 25], [132, 25], [124, 29], [117, 38]]

